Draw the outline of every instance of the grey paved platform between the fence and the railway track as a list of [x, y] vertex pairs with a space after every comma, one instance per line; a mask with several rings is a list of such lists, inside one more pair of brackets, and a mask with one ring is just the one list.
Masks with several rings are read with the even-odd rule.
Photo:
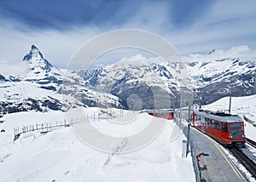
[[201, 181], [238, 182], [246, 181], [215, 141], [195, 128], [190, 129], [195, 152], [200, 154]]

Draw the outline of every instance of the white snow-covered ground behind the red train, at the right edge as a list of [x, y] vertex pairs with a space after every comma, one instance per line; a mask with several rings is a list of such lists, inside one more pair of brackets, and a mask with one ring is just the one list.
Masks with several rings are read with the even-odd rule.
[[[230, 98], [224, 97], [211, 105], [204, 105], [202, 109], [212, 111], [227, 111], [229, 110]], [[231, 114], [237, 114], [240, 117], [247, 117], [256, 123], [256, 95], [245, 97], [232, 97], [231, 99]], [[246, 122], [245, 134], [247, 138], [256, 141], [256, 127], [253, 124]]]

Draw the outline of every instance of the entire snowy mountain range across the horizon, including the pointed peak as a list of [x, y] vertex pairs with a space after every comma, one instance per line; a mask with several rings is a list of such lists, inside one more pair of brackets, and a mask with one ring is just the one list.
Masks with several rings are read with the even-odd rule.
[[[255, 62], [215, 59], [214, 54], [218, 54], [215, 49], [198, 60], [195, 56], [184, 60], [191, 82], [187, 90], [194, 94], [194, 102], [209, 104], [228, 95], [253, 94]], [[99, 69], [61, 70], [32, 45], [23, 58], [24, 74], [7, 77], [0, 72], [0, 112], [67, 111], [77, 106], [153, 109], [173, 106], [170, 100], [179, 105], [182, 90], [170, 65], [142, 60], [136, 55]]]

